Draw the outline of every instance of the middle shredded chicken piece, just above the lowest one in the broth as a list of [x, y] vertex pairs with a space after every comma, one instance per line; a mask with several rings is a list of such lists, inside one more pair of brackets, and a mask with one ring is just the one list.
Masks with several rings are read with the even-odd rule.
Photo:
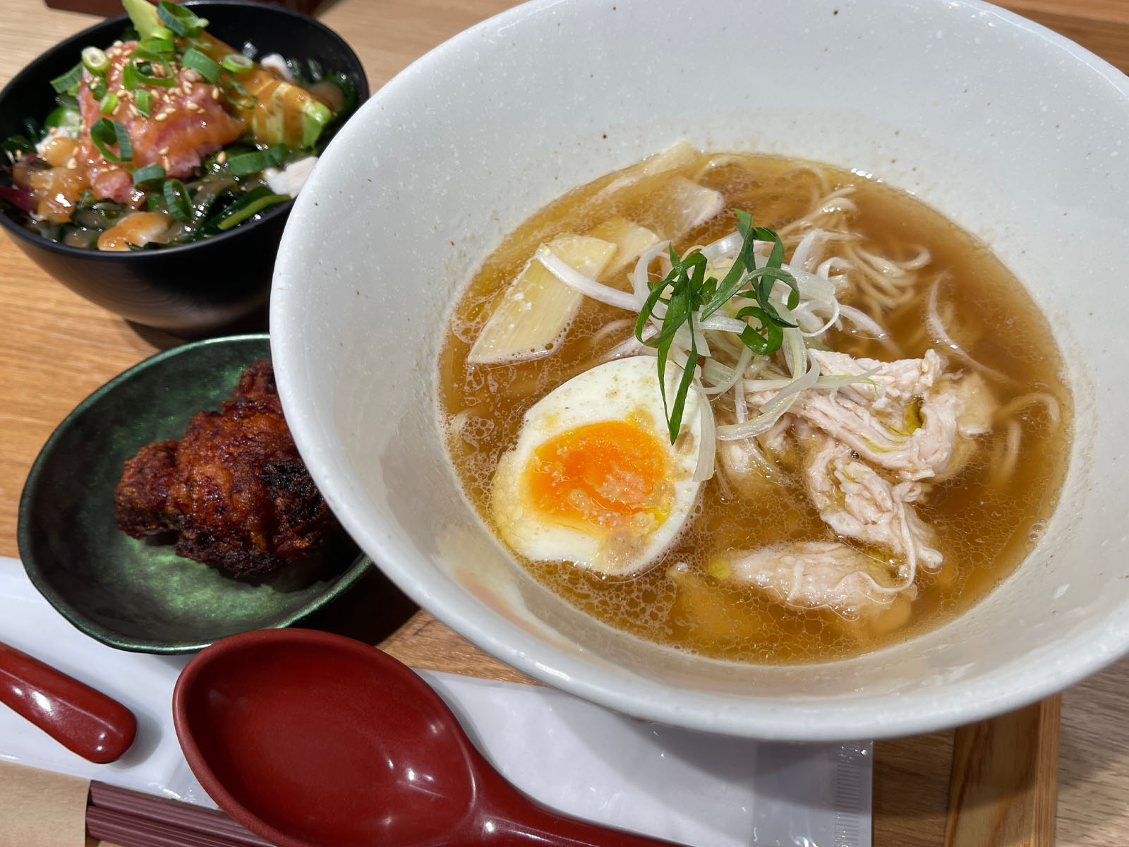
[[891, 483], [848, 445], [803, 425], [800, 444], [808, 495], [835, 534], [890, 551], [902, 559], [902, 576], [909, 579], [919, 566], [940, 566], [934, 531], [910, 505], [921, 497], [920, 482]]

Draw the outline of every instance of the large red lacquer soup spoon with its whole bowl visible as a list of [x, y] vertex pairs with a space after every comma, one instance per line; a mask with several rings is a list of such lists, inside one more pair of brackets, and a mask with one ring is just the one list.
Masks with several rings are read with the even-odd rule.
[[212, 800], [279, 847], [658, 847], [507, 783], [406, 665], [329, 632], [231, 636], [181, 673], [173, 718]]

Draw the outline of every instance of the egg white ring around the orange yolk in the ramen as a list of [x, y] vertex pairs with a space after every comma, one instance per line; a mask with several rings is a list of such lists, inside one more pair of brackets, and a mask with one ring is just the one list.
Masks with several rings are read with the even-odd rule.
[[[666, 395], [672, 403], [681, 375], [677, 367], [667, 367]], [[672, 445], [654, 357], [615, 359], [554, 388], [525, 413], [517, 444], [498, 463], [491, 510], [502, 540], [534, 561], [570, 561], [615, 577], [646, 569], [675, 540], [698, 500], [701, 483], [693, 474], [701, 443], [699, 402], [699, 395], [691, 391]], [[674, 494], [669, 514], [657, 527], [645, 532], [587, 531], [567, 525], [523, 496], [523, 474], [540, 445], [577, 427], [609, 420], [641, 425], [665, 445], [666, 482]]]

